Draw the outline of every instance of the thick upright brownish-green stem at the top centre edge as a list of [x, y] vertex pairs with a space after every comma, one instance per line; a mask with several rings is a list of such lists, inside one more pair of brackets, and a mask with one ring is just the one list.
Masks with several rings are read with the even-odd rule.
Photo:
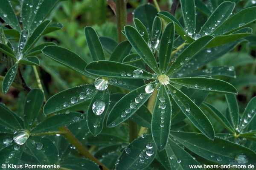
[[118, 42], [122, 42], [126, 40], [125, 35], [122, 34], [122, 30], [127, 25], [126, 3], [124, 0], [116, 0], [116, 20]]

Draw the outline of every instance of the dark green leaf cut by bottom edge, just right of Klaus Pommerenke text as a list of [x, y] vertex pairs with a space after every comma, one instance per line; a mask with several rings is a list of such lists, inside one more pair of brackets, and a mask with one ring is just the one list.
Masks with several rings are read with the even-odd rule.
[[68, 157], [61, 162], [61, 167], [69, 170], [99, 170], [99, 166], [88, 159]]

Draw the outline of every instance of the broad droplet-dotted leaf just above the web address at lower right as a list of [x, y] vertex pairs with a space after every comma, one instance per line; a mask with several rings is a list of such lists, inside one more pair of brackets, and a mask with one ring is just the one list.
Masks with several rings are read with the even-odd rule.
[[255, 152], [225, 139], [210, 140], [203, 134], [192, 132], [171, 131], [170, 134], [195, 154], [218, 164], [230, 164], [230, 161], [241, 154], [248, 159], [247, 164], [256, 162]]

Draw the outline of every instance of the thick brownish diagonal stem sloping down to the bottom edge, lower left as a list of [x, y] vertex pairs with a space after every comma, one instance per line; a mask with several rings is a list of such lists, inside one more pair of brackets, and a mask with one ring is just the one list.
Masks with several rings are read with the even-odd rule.
[[70, 130], [64, 126], [59, 127], [61, 132], [65, 132], [63, 136], [67, 139], [70, 144], [72, 144], [76, 149], [81, 153], [81, 155], [85, 156], [87, 159], [94, 161], [99, 167], [102, 167], [102, 170], [109, 170], [104, 164], [102, 164], [98, 159], [96, 159], [88, 150], [84, 148], [84, 146], [76, 139], [76, 137], [70, 132]]

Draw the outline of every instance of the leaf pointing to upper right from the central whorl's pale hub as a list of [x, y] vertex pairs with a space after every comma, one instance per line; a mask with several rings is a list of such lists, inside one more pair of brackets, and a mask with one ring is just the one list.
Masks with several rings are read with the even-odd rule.
[[209, 43], [210, 40], [212, 40], [212, 38], [212, 36], [207, 35], [192, 42], [185, 50], [182, 51], [182, 53], [172, 63], [166, 75], [170, 75], [178, 71], [180, 68], [182, 68], [183, 65], [186, 65], [186, 63], [189, 62], [189, 60], [191, 60], [200, 51], [204, 49], [204, 47]]

